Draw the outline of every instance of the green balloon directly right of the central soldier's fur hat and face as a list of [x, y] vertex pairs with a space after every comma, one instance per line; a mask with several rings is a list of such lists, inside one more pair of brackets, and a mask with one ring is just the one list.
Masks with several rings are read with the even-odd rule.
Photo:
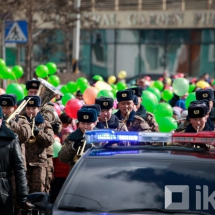
[[155, 94], [149, 91], [143, 91], [142, 93], [142, 105], [147, 111], [153, 113], [158, 104], [158, 99]]

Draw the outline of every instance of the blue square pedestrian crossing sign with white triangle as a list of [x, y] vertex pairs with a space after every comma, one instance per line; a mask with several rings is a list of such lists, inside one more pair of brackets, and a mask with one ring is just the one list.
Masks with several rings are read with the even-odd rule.
[[26, 21], [5, 21], [5, 43], [27, 43], [28, 23]]

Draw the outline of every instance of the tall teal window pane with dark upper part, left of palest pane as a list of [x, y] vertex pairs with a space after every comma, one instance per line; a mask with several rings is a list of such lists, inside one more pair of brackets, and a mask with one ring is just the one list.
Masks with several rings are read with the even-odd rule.
[[107, 78], [114, 74], [114, 45], [94, 44], [92, 45], [91, 56], [92, 75], [101, 75]]

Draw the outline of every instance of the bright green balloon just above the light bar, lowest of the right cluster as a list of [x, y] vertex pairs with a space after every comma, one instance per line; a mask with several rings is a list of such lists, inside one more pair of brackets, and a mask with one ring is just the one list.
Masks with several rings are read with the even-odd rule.
[[171, 132], [178, 128], [178, 124], [173, 117], [166, 116], [159, 121], [160, 132]]

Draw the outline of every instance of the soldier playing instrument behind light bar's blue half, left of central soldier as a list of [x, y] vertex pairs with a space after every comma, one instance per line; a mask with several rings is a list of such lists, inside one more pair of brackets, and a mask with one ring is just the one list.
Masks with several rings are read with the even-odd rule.
[[118, 117], [112, 114], [113, 99], [107, 97], [100, 97], [96, 99], [96, 104], [101, 107], [99, 115], [99, 122], [104, 128], [114, 129], [116, 131], [128, 131], [126, 125], [119, 121]]

